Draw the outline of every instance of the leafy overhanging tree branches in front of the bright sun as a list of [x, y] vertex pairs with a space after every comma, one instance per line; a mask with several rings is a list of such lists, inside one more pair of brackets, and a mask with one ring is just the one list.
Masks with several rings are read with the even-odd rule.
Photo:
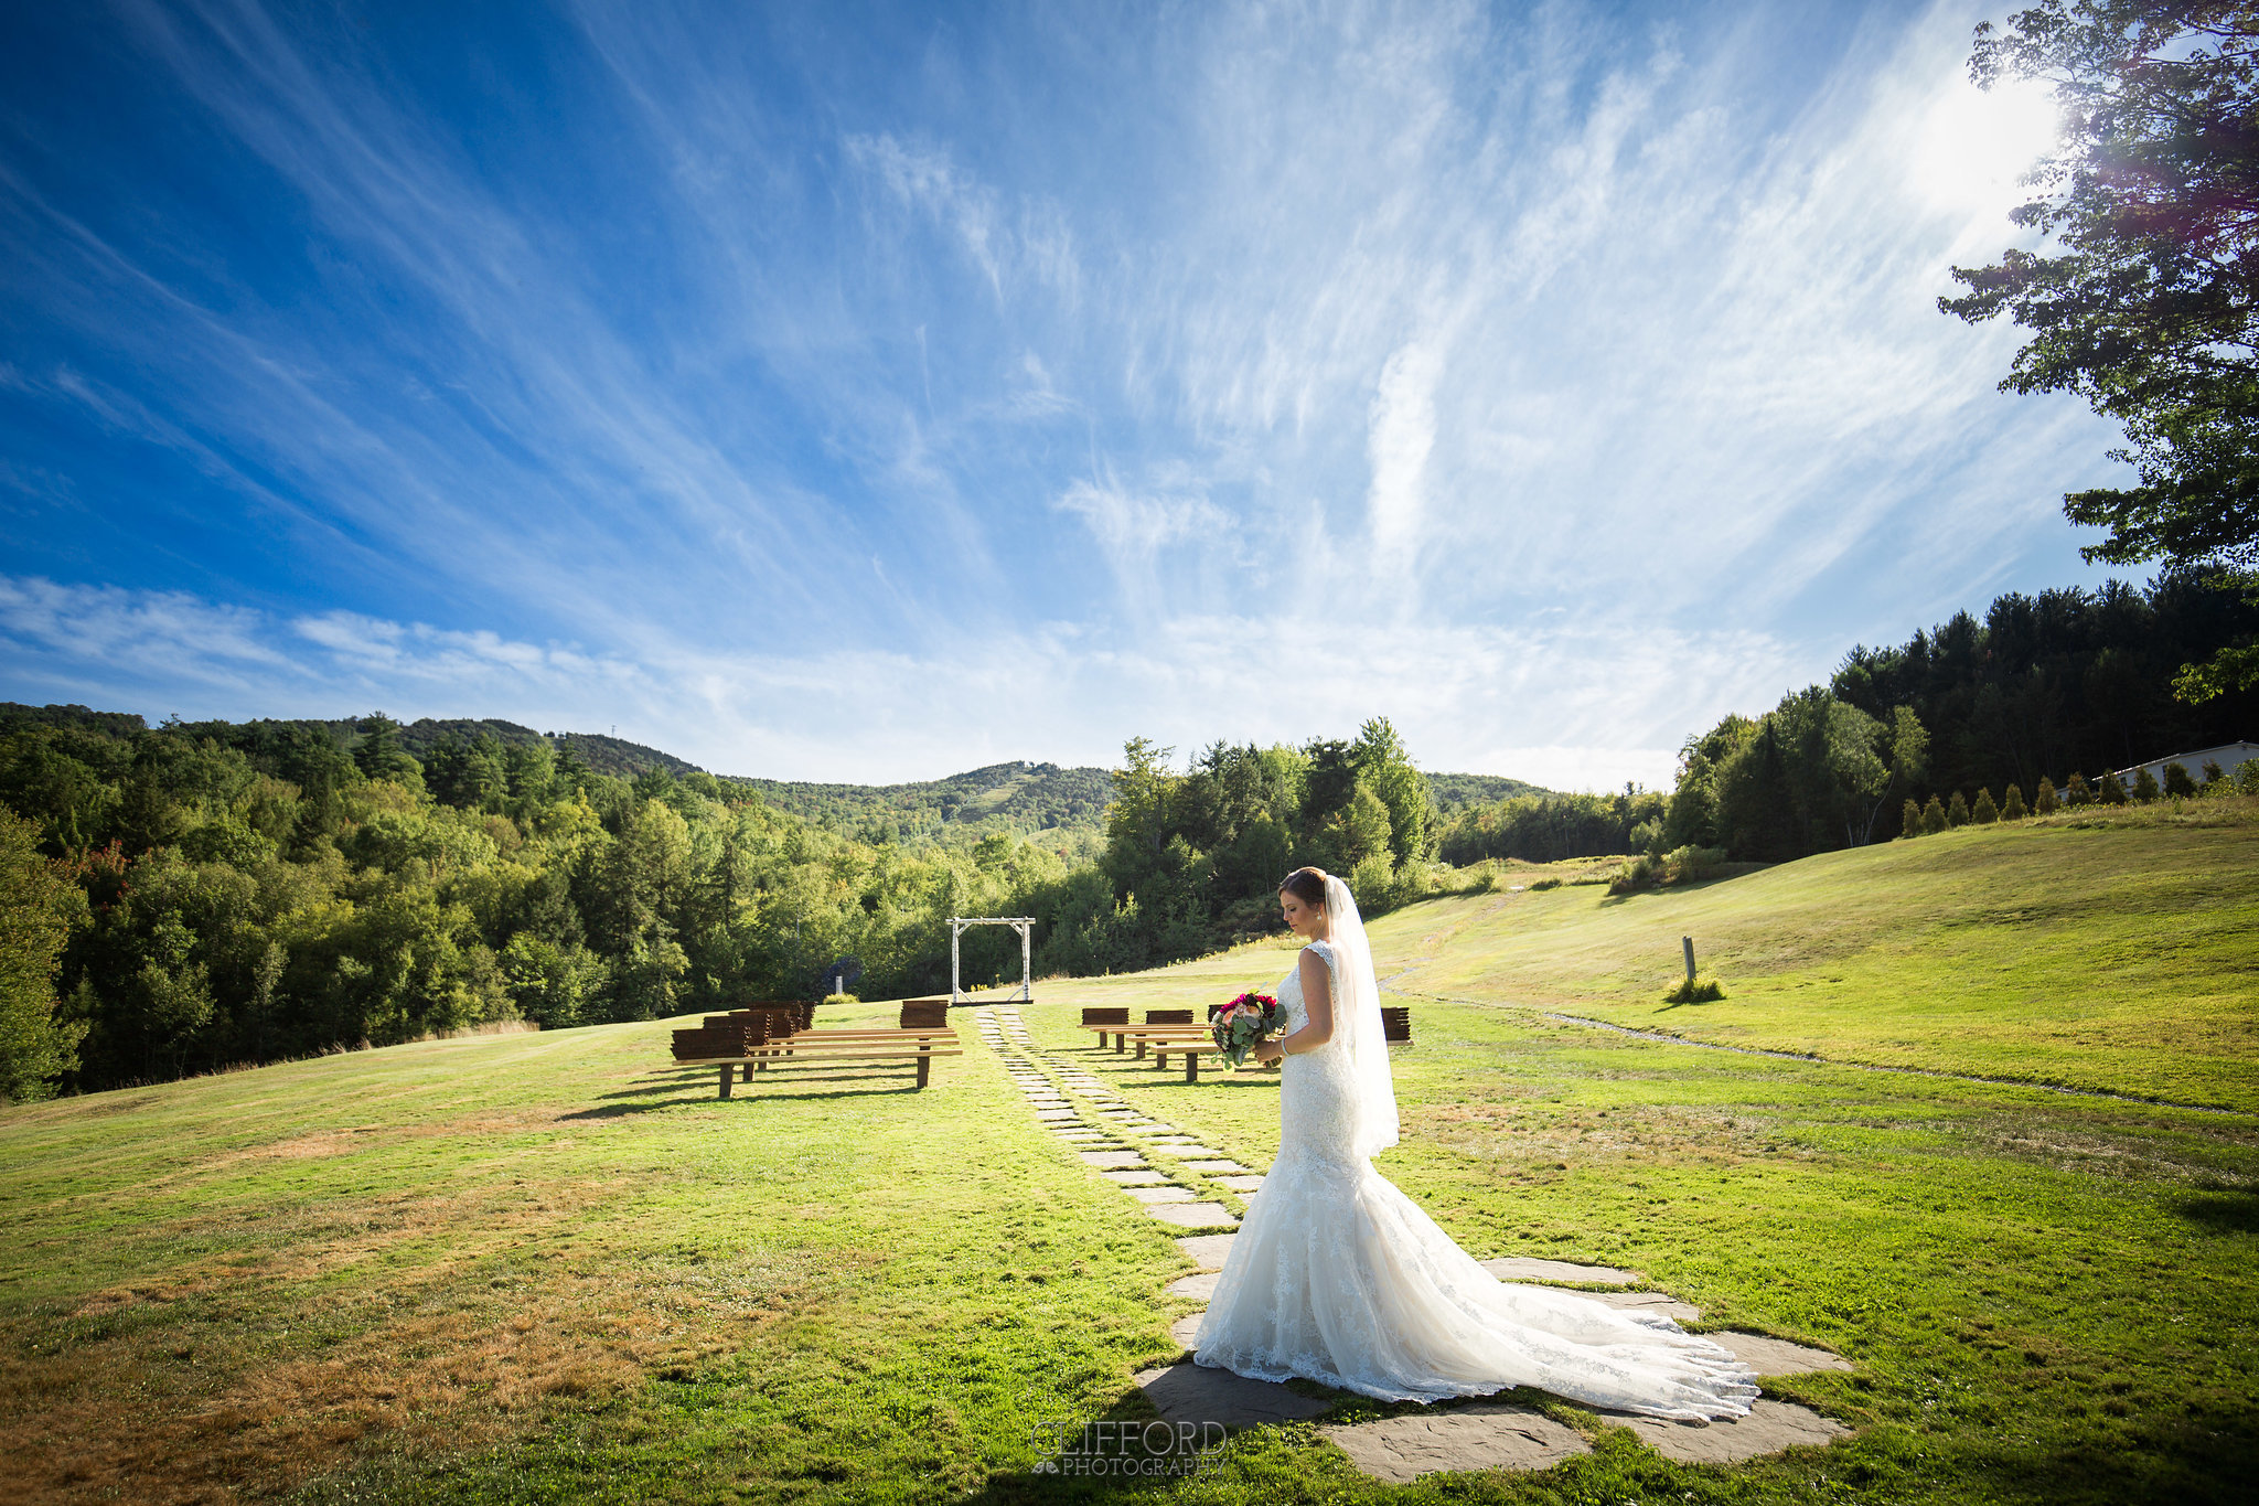
[[[2065, 497], [2087, 560], [2164, 558], [2259, 589], [2259, 11], [2232, 0], [2042, 0], [1977, 27], [1970, 77], [2053, 84], [2056, 151], [2011, 219], [2051, 239], [1938, 307], [2033, 330], [2004, 391], [2072, 391], [2126, 427], [2126, 488]], [[2259, 643], [2182, 668], [2207, 700], [2259, 684]]]

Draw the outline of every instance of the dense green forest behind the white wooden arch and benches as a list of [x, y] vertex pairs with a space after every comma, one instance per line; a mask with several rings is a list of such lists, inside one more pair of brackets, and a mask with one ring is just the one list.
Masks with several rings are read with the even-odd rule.
[[[1292, 863], [1355, 872], [1373, 905], [1421, 872], [1428, 795], [1387, 723], [1215, 747], [1188, 774], [1163, 759], [1130, 745], [1091, 856], [998, 824], [863, 840], [542, 736], [443, 732], [418, 759], [384, 716], [151, 729], [11, 707], [0, 1093], [811, 998], [843, 962], [863, 996], [928, 993], [951, 914], [1037, 917], [1039, 973], [1141, 969], [1276, 928]], [[1017, 978], [1017, 937], [974, 930], [965, 962], [971, 984]]]

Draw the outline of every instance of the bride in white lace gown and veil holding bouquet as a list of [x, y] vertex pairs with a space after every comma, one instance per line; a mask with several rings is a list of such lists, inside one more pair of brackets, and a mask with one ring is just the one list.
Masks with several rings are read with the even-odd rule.
[[1279, 885], [1279, 905], [1310, 942], [1279, 982], [1288, 1032], [1256, 1045], [1261, 1061], [1283, 1061], [1279, 1156], [1193, 1359], [1389, 1402], [1536, 1386], [1683, 1422], [1748, 1413], [1755, 1375], [1710, 1339], [1498, 1280], [1373, 1170], [1369, 1156], [1396, 1145], [1396, 1088], [1358, 901], [1303, 867]]

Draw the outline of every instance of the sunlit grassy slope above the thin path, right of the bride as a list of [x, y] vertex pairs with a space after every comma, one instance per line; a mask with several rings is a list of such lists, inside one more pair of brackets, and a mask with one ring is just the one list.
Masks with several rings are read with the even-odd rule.
[[[1683, 935], [1730, 998], [1667, 1005]], [[2259, 811], [1889, 842], [1687, 890], [1565, 885], [1376, 926], [1389, 987], [1699, 1041], [2259, 1109]]]

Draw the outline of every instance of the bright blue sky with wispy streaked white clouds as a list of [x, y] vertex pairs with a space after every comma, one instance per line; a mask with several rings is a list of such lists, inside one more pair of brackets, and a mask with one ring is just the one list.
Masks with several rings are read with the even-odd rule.
[[2092, 583], [1981, 5], [0, 20], [0, 698], [1665, 783]]

